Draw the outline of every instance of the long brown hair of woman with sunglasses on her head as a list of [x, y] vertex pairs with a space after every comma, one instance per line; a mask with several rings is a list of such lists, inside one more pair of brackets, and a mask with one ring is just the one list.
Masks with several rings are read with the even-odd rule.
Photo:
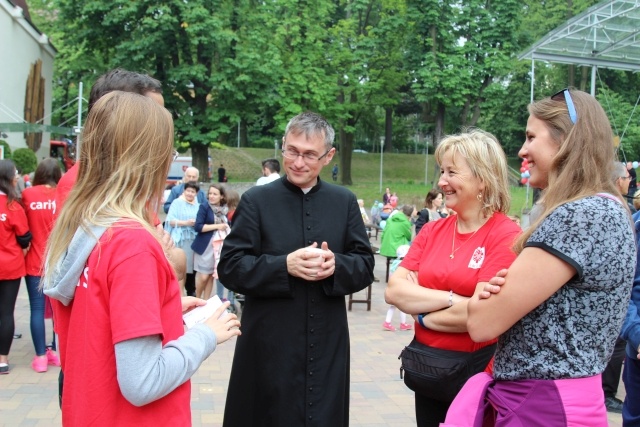
[[619, 193], [611, 181], [615, 155], [613, 132], [606, 113], [588, 93], [572, 89], [569, 94], [578, 116], [575, 124], [562, 96], [529, 105], [529, 114], [544, 122], [558, 144], [558, 153], [549, 169], [542, 212], [516, 240], [516, 253], [522, 251], [527, 239], [558, 206], [596, 193]]

